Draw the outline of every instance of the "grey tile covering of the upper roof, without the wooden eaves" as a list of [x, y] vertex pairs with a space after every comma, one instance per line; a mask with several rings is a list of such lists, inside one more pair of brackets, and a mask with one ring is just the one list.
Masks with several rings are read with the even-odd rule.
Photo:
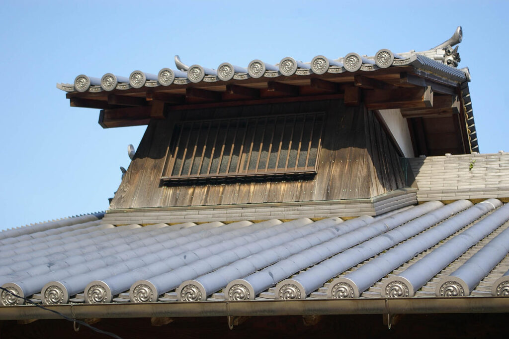
[[[433, 60], [440, 55], [438, 60]], [[364, 71], [371, 72], [381, 68], [411, 65], [417, 69], [433, 72], [457, 83], [470, 81], [468, 68], [458, 69], [444, 64], [447, 58], [444, 50], [436, 49], [423, 52], [411, 51], [409, 53], [395, 54], [388, 49], [380, 49], [375, 56], [360, 56], [349, 53], [344, 58], [329, 59], [325, 56], [316, 56], [310, 62], [297, 61], [286, 57], [276, 65], [261, 60], [252, 60], [247, 67], [234, 66], [224, 62], [216, 69], [200, 65], [187, 66], [175, 56], [175, 63], [180, 70], [162, 68], [158, 74], [145, 73], [139, 70], [131, 72], [129, 76], [104, 74], [98, 77], [89, 77], [80, 74], [76, 76], [74, 84], [56, 84], [56, 87], [66, 92], [102, 92], [112, 90], [128, 90], [131, 88], [160, 87], [170, 85], [187, 85], [189, 83], [215, 83], [229, 80], [248, 80], [250, 78], [266, 77], [269, 79], [291, 75], [310, 75], [324, 73], [347, 73]]]

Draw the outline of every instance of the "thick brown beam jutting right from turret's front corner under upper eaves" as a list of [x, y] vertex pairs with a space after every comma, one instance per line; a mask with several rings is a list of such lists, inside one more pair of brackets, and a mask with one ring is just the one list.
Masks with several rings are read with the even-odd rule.
[[433, 91], [430, 86], [365, 91], [364, 103], [369, 110], [428, 108], [433, 106]]

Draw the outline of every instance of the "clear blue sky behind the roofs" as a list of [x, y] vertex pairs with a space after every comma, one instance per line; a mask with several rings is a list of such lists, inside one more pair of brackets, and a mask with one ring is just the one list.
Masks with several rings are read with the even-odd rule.
[[87, 1], [2, 3], [0, 229], [104, 211], [145, 126], [103, 129], [59, 82], [187, 64], [309, 61], [426, 50], [463, 27], [460, 67], [482, 153], [509, 151], [509, 2]]

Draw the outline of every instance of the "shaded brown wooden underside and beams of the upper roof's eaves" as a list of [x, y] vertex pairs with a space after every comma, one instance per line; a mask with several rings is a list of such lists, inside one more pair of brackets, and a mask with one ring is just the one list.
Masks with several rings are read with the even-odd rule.
[[460, 86], [457, 81], [406, 65], [370, 72], [70, 92], [66, 97], [72, 107], [101, 109], [99, 124], [104, 128], [145, 125], [172, 111], [329, 99], [344, 99], [348, 106], [364, 102], [370, 110], [402, 109], [415, 154], [443, 155], [471, 152], [466, 117], [461, 114]]

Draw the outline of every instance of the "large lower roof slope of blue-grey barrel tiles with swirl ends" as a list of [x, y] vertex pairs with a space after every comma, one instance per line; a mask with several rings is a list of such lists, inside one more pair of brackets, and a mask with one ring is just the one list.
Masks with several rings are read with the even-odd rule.
[[503, 296], [508, 220], [509, 204], [488, 199], [347, 221], [83, 223], [35, 242], [3, 239], [0, 283], [48, 304]]

